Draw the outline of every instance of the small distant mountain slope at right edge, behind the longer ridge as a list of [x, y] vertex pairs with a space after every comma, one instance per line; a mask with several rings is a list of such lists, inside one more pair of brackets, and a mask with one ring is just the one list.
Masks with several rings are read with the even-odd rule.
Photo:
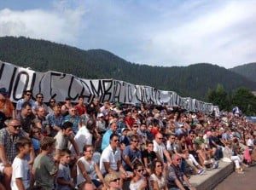
[[230, 69], [232, 72], [236, 72], [241, 76], [256, 82], [256, 62], [248, 63], [242, 66], [236, 66]]

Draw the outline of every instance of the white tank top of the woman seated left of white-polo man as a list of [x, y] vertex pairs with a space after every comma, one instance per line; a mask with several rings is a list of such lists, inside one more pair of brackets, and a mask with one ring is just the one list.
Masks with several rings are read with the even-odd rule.
[[[90, 176], [90, 179], [96, 179], [96, 170], [95, 170], [96, 163], [93, 160], [91, 160], [89, 162], [84, 157], [79, 158], [79, 161], [84, 164], [84, 168], [85, 168], [87, 174]], [[79, 169], [79, 165], [77, 165], [77, 174], [78, 174], [77, 185], [79, 185], [85, 181], [83, 173]]]

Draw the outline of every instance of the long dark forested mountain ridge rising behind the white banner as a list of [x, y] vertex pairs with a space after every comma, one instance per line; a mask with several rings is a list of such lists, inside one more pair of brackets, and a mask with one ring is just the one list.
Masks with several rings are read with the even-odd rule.
[[0, 37], [0, 60], [35, 71], [72, 73], [80, 78], [115, 78], [179, 95], [205, 100], [208, 89], [218, 83], [227, 90], [256, 83], [224, 67], [201, 63], [191, 66], [138, 65], [102, 49], [81, 50], [67, 45], [26, 37]]

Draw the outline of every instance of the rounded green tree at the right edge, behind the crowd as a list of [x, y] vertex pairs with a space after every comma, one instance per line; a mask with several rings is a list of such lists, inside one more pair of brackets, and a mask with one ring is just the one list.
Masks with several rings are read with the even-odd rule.
[[256, 96], [249, 89], [236, 89], [232, 97], [232, 105], [239, 107], [247, 116], [256, 115]]

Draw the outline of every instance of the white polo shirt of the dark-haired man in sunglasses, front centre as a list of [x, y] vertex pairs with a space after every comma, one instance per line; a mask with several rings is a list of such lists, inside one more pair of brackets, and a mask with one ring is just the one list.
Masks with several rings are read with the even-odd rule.
[[100, 159], [100, 170], [102, 174], [106, 173], [105, 166], [103, 162], [108, 162], [110, 164], [110, 168], [113, 170], [118, 170], [118, 165], [117, 162], [121, 161], [121, 153], [119, 148], [116, 149], [114, 152], [112, 147], [108, 145], [103, 152], [102, 152], [102, 157]]

